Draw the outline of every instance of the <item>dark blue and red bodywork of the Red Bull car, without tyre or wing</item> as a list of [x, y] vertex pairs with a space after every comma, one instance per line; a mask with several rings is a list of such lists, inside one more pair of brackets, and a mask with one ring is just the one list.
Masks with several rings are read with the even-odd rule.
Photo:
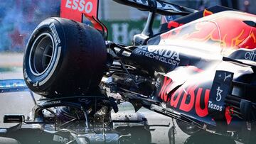
[[162, 25], [161, 33], [130, 48], [133, 65], [154, 72], [147, 98], [154, 102], [140, 103], [206, 131], [253, 137], [255, 21], [255, 15], [214, 6]]

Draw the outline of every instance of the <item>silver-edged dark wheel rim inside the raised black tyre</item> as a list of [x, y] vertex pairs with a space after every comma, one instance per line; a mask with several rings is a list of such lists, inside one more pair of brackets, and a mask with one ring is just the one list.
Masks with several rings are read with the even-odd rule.
[[49, 33], [42, 33], [33, 42], [29, 54], [29, 67], [31, 72], [39, 76], [44, 74], [53, 63], [55, 45], [53, 36]]

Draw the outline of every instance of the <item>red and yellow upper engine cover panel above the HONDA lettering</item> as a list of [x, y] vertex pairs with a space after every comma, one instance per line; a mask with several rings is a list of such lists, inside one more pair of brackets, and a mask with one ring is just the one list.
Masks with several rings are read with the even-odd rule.
[[[256, 47], [256, 28], [247, 25], [245, 21], [256, 21], [256, 16], [237, 11], [224, 11], [183, 24], [169, 22], [171, 31], [161, 34], [162, 44], [170, 40], [193, 40], [203, 43], [220, 43], [222, 48], [248, 48]], [[189, 29], [189, 30], [188, 30]]]

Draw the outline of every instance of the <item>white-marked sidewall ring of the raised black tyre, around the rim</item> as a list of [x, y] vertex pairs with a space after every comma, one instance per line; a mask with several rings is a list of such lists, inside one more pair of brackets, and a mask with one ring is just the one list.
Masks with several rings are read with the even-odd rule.
[[[50, 62], [50, 66], [41, 75], [33, 74], [30, 66], [30, 53], [32, 50], [33, 43], [36, 38], [42, 33], [48, 33], [53, 38], [53, 59]], [[53, 85], [53, 78], [60, 68], [60, 64], [63, 60], [63, 50], [65, 50], [65, 35], [63, 33], [63, 28], [58, 21], [54, 18], [48, 18], [48, 20], [40, 23], [35, 31], [33, 31], [31, 37], [26, 45], [25, 54], [23, 57], [23, 76], [26, 84], [32, 91], [43, 92], [44, 89]]]

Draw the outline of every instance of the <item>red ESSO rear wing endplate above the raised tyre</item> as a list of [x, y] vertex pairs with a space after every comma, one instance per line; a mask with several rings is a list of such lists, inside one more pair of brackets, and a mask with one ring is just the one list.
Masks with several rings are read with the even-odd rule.
[[99, 0], [61, 0], [60, 17], [82, 23], [87, 18], [107, 39], [107, 27], [98, 19]]

